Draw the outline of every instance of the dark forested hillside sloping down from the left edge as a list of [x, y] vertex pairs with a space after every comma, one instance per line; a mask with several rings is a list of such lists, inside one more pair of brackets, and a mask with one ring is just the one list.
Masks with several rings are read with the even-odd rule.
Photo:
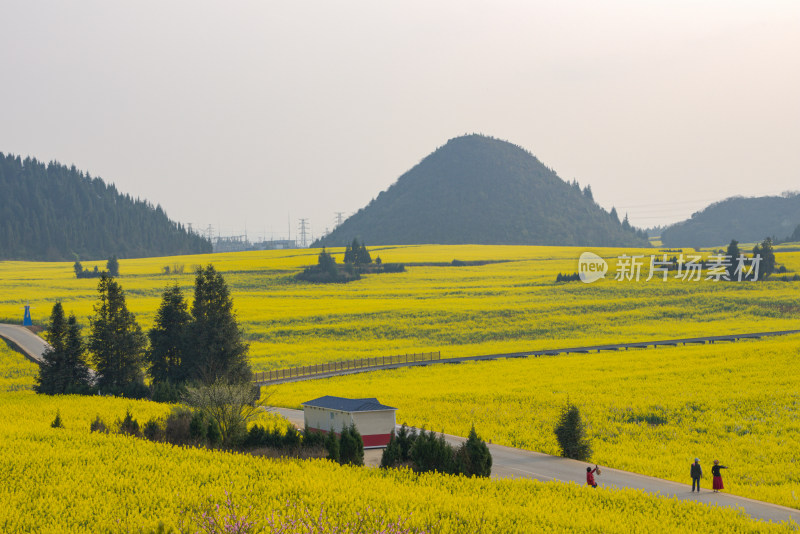
[[0, 152], [0, 259], [74, 260], [200, 254], [211, 243], [161, 206], [75, 166]]

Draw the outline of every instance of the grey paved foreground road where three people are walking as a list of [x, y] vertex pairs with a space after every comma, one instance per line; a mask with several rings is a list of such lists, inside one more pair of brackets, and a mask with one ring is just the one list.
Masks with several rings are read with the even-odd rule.
[[[302, 410], [291, 410], [289, 408], [272, 408], [271, 410], [286, 417], [298, 428], [303, 428]], [[460, 445], [466, 441], [466, 438], [445, 434], [445, 440], [451, 445]], [[489, 451], [492, 453], [493, 478], [533, 478], [541, 481], [560, 480], [562, 482], [577, 482], [578, 484], [586, 483], [586, 467], [589, 464], [584, 462], [502, 445], [489, 445]], [[686, 462], [688, 478], [691, 459], [687, 459]], [[765, 521], [794, 520], [795, 522], [800, 522], [800, 510], [727, 493], [714, 493], [710, 489], [710, 474], [702, 481], [705, 489], [700, 493], [692, 493], [689, 484], [679, 484], [670, 480], [648, 477], [610, 467], [600, 467], [602, 475], [596, 477], [600, 486], [639, 489], [648, 493], [676, 497], [681, 500], [740, 508], [751, 517]], [[710, 473], [711, 466], [705, 465], [705, 468]]]

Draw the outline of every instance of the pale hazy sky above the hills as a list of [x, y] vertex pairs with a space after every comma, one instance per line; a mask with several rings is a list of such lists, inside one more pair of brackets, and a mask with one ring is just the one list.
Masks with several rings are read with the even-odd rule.
[[0, 152], [195, 228], [319, 235], [473, 132], [638, 226], [800, 189], [800, 2], [0, 4]]

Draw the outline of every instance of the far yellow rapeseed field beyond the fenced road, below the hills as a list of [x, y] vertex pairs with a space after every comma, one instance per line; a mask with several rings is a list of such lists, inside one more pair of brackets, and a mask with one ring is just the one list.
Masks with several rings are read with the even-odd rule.
[[[580, 247], [374, 247], [373, 257], [404, 262], [405, 273], [368, 275], [346, 285], [297, 282], [316, 250], [283, 250], [122, 260], [120, 283], [144, 328], [163, 289], [177, 281], [191, 298], [193, 266], [224, 273], [255, 370], [332, 360], [440, 350], [467, 356], [654, 338], [794, 328], [798, 284], [613, 280], [623, 254], [657, 249], [592, 249], [612, 271], [592, 285], [556, 283], [577, 270]], [[342, 250], [334, 250], [342, 261]], [[689, 251], [687, 251], [687, 254]], [[670, 252], [669, 255], [674, 255]], [[708, 254], [708, 252], [704, 252]], [[452, 260], [489, 262], [455, 267]], [[778, 252], [800, 271], [800, 252]], [[496, 262], [496, 263], [493, 263]], [[104, 262], [83, 262], [92, 268]], [[184, 274], [163, 273], [182, 265]], [[674, 273], [673, 273], [674, 274]], [[19, 321], [30, 302], [43, 323], [60, 299], [84, 325], [96, 280], [74, 277], [70, 263], [0, 262], [0, 320]]]

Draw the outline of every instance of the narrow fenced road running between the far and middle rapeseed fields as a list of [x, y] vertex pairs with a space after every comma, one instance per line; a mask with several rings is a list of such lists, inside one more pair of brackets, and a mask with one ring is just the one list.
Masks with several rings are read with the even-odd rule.
[[[678, 345], [702, 345], [706, 343], [723, 343], [723, 342], [734, 342], [739, 341], [742, 339], [761, 339], [763, 337], [773, 337], [773, 336], [786, 336], [790, 334], [800, 334], [800, 330], [779, 330], [773, 332], [754, 332], [754, 333], [747, 333], [747, 334], [726, 334], [722, 336], [702, 336], [702, 337], [690, 337], [690, 338], [680, 338], [680, 339], [661, 339], [661, 340], [654, 340], [654, 341], [637, 341], [633, 343], [611, 343], [606, 345], [587, 345], [583, 347], [567, 347], [561, 349], [543, 349], [543, 350], [532, 350], [526, 352], [508, 352], [503, 354], [486, 354], [482, 356], [464, 356], [461, 358], [436, 358], [430, 360], [420, 360], [420, 361], [407, 361], [407, 362], [395, 362], [389, 364], [376, 364], [376, 365], [364, 365], [358, 368], [353, 369], [335, 369], [332, 371], [324, 371], [324, 372], [316, 372], [314, 371], [315, 368], [325, 368], [326, 366], [334, 366], [335, 364], [322, 364], [322, 365], [311, 365], [306, 367], [297, 367], [283, 370], [272, 371], [272, 373], [277, 377], [281, 376], [281, 378], [274, 378], [268, 380], [256, 380], [256, 384], [259, 385], [272, 385], [272, 384], [283, 384], [287, 382], [299, 382], [302, 380], [314, 380], [317, 378], [330, 378], [332, 376], [341, 376], [341, 375], [350, 375], [356, 373], [367, 373], [371, 371], [380, 371], [384, 369], [397, 369], [399, 367], [420, 367], [426, 365], [433, 365], [439, 363], [450, 363], [456, 364], [461, 362], [471, 362], [471, 361], [486, 361], [486, 360], [497, 360], [500, 358], [528, 358], [528, 357], [539, 357], [539, 356], [556, 356], [558, 354], [587, 354], [590, 352], [602, 352], [602, 351], [620, 351], [620, 350], [628, 350], [628, 349], [647, 349], [647, 348], [655, 348], [655, 347], [677, 347]], [[371, 358], [367, 358], [366, 360], [371, 360]], [[375, 358], [376, 362], [381, 361], [381, 358]], [[338, 362], [340, 363], [340, 362]], [[268, 373], [268, 371], [265, 371]]]

